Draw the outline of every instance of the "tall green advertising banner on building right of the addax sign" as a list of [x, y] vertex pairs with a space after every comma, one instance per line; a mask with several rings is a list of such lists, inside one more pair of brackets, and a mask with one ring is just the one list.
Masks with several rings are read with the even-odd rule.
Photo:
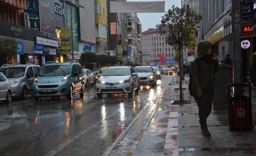
[[71, 6], [69, 4], [66, 4], [66, 27], [70, 28], [71, 24], [73, 25], [73, 43], [72, 41], [70, 42], [71, 44], [73, 44], [73, 50], [79, 51], [77, 8], [72, 7], [72, 21], [71, 21]]

